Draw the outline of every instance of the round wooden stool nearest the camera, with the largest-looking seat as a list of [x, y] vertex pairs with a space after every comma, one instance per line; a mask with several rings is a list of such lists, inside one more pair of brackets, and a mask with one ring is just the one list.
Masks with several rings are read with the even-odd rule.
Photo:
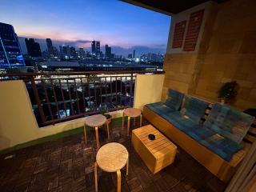
[[126, 166], [126, 175], [128, 175], [129, 154], [125, 146], [118, 142], [110, 142], [102, 146], [96, 155], [94, 166], [95, 191], [98, 191], [97, 166], [106, 172], [117, 172], [117, 191], [121, 191], [121, 172]]

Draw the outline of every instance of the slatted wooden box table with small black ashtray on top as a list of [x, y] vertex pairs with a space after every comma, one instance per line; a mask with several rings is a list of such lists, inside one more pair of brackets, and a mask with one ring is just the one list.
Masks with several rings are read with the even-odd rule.
[[[155, 140], [150, 140], [149, 134], [154, 134]], [[177, 146], [156, 130], [154, 126], [142, 126], [133, 130], [131, 142], [153, 174], [174, 162]]]

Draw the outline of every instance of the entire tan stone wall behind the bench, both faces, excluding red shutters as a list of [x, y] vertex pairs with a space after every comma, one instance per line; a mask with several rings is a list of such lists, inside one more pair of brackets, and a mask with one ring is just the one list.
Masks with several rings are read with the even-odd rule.
[[[170, 33], [164, 69], [162, 97], [168, 88], [218, 102], [223, 82], [236, 80], [240, 86], [237, 101], [241, 110], [256, 107], [256, 1], [230, 0], [202, 4], [204, 15], [197, 49], [191, 52], [171, 48]], [[172, 26], [194, 7], [172, 18]], [[171, 30], [174, 30], [171, 28]], [[186, 35], [186, 34], [185, 34]]]

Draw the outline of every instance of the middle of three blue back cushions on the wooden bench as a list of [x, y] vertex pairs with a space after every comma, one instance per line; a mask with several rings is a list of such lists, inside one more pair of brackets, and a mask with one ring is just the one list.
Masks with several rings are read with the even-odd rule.
[[184, 114], [191, 118], [194, 122], [200, 122], [202, 116], [206, 112], [208, 104], [198, 98], [186, 96], [184, 105]]

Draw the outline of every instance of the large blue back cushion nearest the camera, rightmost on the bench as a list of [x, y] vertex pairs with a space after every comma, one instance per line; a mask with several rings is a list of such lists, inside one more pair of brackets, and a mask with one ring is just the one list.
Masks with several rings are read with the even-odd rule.
[[204, 126], [239, 144], [253, 122], [249, 114], [215, 103]]

